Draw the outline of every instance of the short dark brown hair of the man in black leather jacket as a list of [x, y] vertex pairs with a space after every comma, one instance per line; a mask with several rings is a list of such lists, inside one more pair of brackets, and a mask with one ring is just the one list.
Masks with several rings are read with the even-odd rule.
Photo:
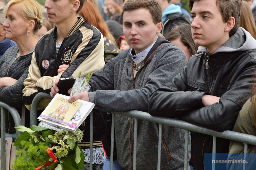
[[[190, 11], [193, 8], [194, 2], [203, 0], [189, 0]], [[234, 35], [239, 28], [239, 20], [242, 9], [242, 0], [216, 0], [216, 5], [219, 7], [223, 21], [226, 23], [230, 17], [235, 18], [235, 26], [230, 30], [229, 36]]]

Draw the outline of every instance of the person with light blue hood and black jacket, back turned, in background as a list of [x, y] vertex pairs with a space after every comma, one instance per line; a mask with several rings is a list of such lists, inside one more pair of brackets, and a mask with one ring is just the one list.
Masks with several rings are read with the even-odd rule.
[[163, 28], [161, 33], [166, 36], [174, 26], [181, 23], [190, 24], [189, 17], [181, 13], [181, 7], [174, 5], [171, 0], [156, 0], [162, 10], [162, 23]]

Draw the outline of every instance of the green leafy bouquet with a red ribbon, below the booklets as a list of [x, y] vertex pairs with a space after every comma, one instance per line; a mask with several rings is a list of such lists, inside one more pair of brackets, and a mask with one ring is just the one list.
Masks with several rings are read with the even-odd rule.
[[83, 135], [80, 129], [75, 134], [35, 125], [31, 128], [17, 126], [16, 129], [23, 133], [14, 142], [19, 149], [15, 151], [17, 157], [11, 165], [13, 170], [34, 170], [41, 165], [45, 170], [84, 168], [84, 153], [78, 146], [78, 140]]

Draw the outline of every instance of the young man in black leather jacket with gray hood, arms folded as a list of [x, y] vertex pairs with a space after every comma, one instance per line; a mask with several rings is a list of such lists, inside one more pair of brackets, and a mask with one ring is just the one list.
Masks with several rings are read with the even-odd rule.
[[[148, 100], [152, 116], [172, 117], [215, 131], [232, 130], [250, 98], [256, 66], [256, 40], [239, 27], [242, 0], [190, 0], [192, 36], [198, 53]], [[203, 170], [212, 136], [191, 132], [191, 164]], [[216, 153], [229, 141], [217, 138]]]

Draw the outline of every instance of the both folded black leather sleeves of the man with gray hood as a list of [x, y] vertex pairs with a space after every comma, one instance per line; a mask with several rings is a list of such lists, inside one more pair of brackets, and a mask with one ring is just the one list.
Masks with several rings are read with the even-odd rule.
[[169, 86], [151, 94], [148, 111], [153, 116], [179, 117], [179, 119], [216, 131], [232, 130], [244, 102], [250, 97], [254, 65], [248, 65], [237, 77], [219, 103], [203, 106], [200, 91], [187, 91], [186, 69], [174, 77]]

